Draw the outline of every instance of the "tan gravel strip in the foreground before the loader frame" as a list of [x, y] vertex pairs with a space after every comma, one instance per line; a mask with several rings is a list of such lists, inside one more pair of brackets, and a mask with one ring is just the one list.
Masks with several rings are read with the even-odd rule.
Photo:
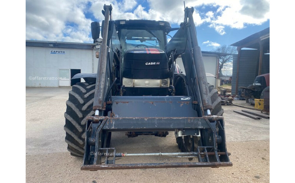
[[[269, 182], [269, 140], [229, 142], [232, 167], [81, 171], [68, 152], [26, 156], [27, 182]], [[144, 158], [142, 161], [148, 161]], [[122, 163], [127, 163], [124, 159]]]

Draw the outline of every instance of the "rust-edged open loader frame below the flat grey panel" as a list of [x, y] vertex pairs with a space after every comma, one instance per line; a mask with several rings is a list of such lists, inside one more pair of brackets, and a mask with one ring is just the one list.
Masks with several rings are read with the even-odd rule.
[[[218, 132], [216, 127], [219, 128]], [[185, 129], [183, 131], [201, 131], [203, 146], [198, 146], [194, 152], [175, 153], [120, 153], [115, 148], [102, 147], [103, 131], [142, 131], [142, 130]], [[209, 138], [208, 136], [209, 135]], [[104, 156], [103, 156], [104, 155]], [[116, 157], [127, 156], [168, 156], [196, 158], [198, 162], [185, 163], [145, 163], [116, 164]], [[104, 163], [102, 163], [104, 162]], [[173, 167], [222, 167], [232, 166], [229, 153], [226, 150], [224, 121], [222, 116], [203, 117], [88, 117], [85, 138], [85, 153], [81, 170], [104, 169], [142, 169], [142, 168], [173, 168]]]

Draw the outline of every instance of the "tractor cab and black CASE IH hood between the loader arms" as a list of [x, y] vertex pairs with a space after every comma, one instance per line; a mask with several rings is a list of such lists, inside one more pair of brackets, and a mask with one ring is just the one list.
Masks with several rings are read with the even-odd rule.
[[166, 96], [170, 85], [165, 50], [169, 22], [116, 20], [121, 47], [122, 95]]

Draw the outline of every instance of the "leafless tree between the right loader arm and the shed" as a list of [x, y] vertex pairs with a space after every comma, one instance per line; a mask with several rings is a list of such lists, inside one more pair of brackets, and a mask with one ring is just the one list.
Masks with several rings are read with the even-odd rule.
[[222, 45], [212, 50], [213, 52], [229, 53], [230, 55], [224, 55], [219, 57], [219, 76], [223, 76], [222, 68], [226, 63], [231, 63], [233, 54], [237, 54], [236, 47]]

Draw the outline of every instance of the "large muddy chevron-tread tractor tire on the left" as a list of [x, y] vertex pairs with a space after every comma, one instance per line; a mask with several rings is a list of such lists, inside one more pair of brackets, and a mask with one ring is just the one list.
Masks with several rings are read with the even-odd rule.
[[73, 156], [84, 155], [86, 117], [94, 115], [95, 83], [76, 83], [69, 92], [65, 112], [65, 142]]

